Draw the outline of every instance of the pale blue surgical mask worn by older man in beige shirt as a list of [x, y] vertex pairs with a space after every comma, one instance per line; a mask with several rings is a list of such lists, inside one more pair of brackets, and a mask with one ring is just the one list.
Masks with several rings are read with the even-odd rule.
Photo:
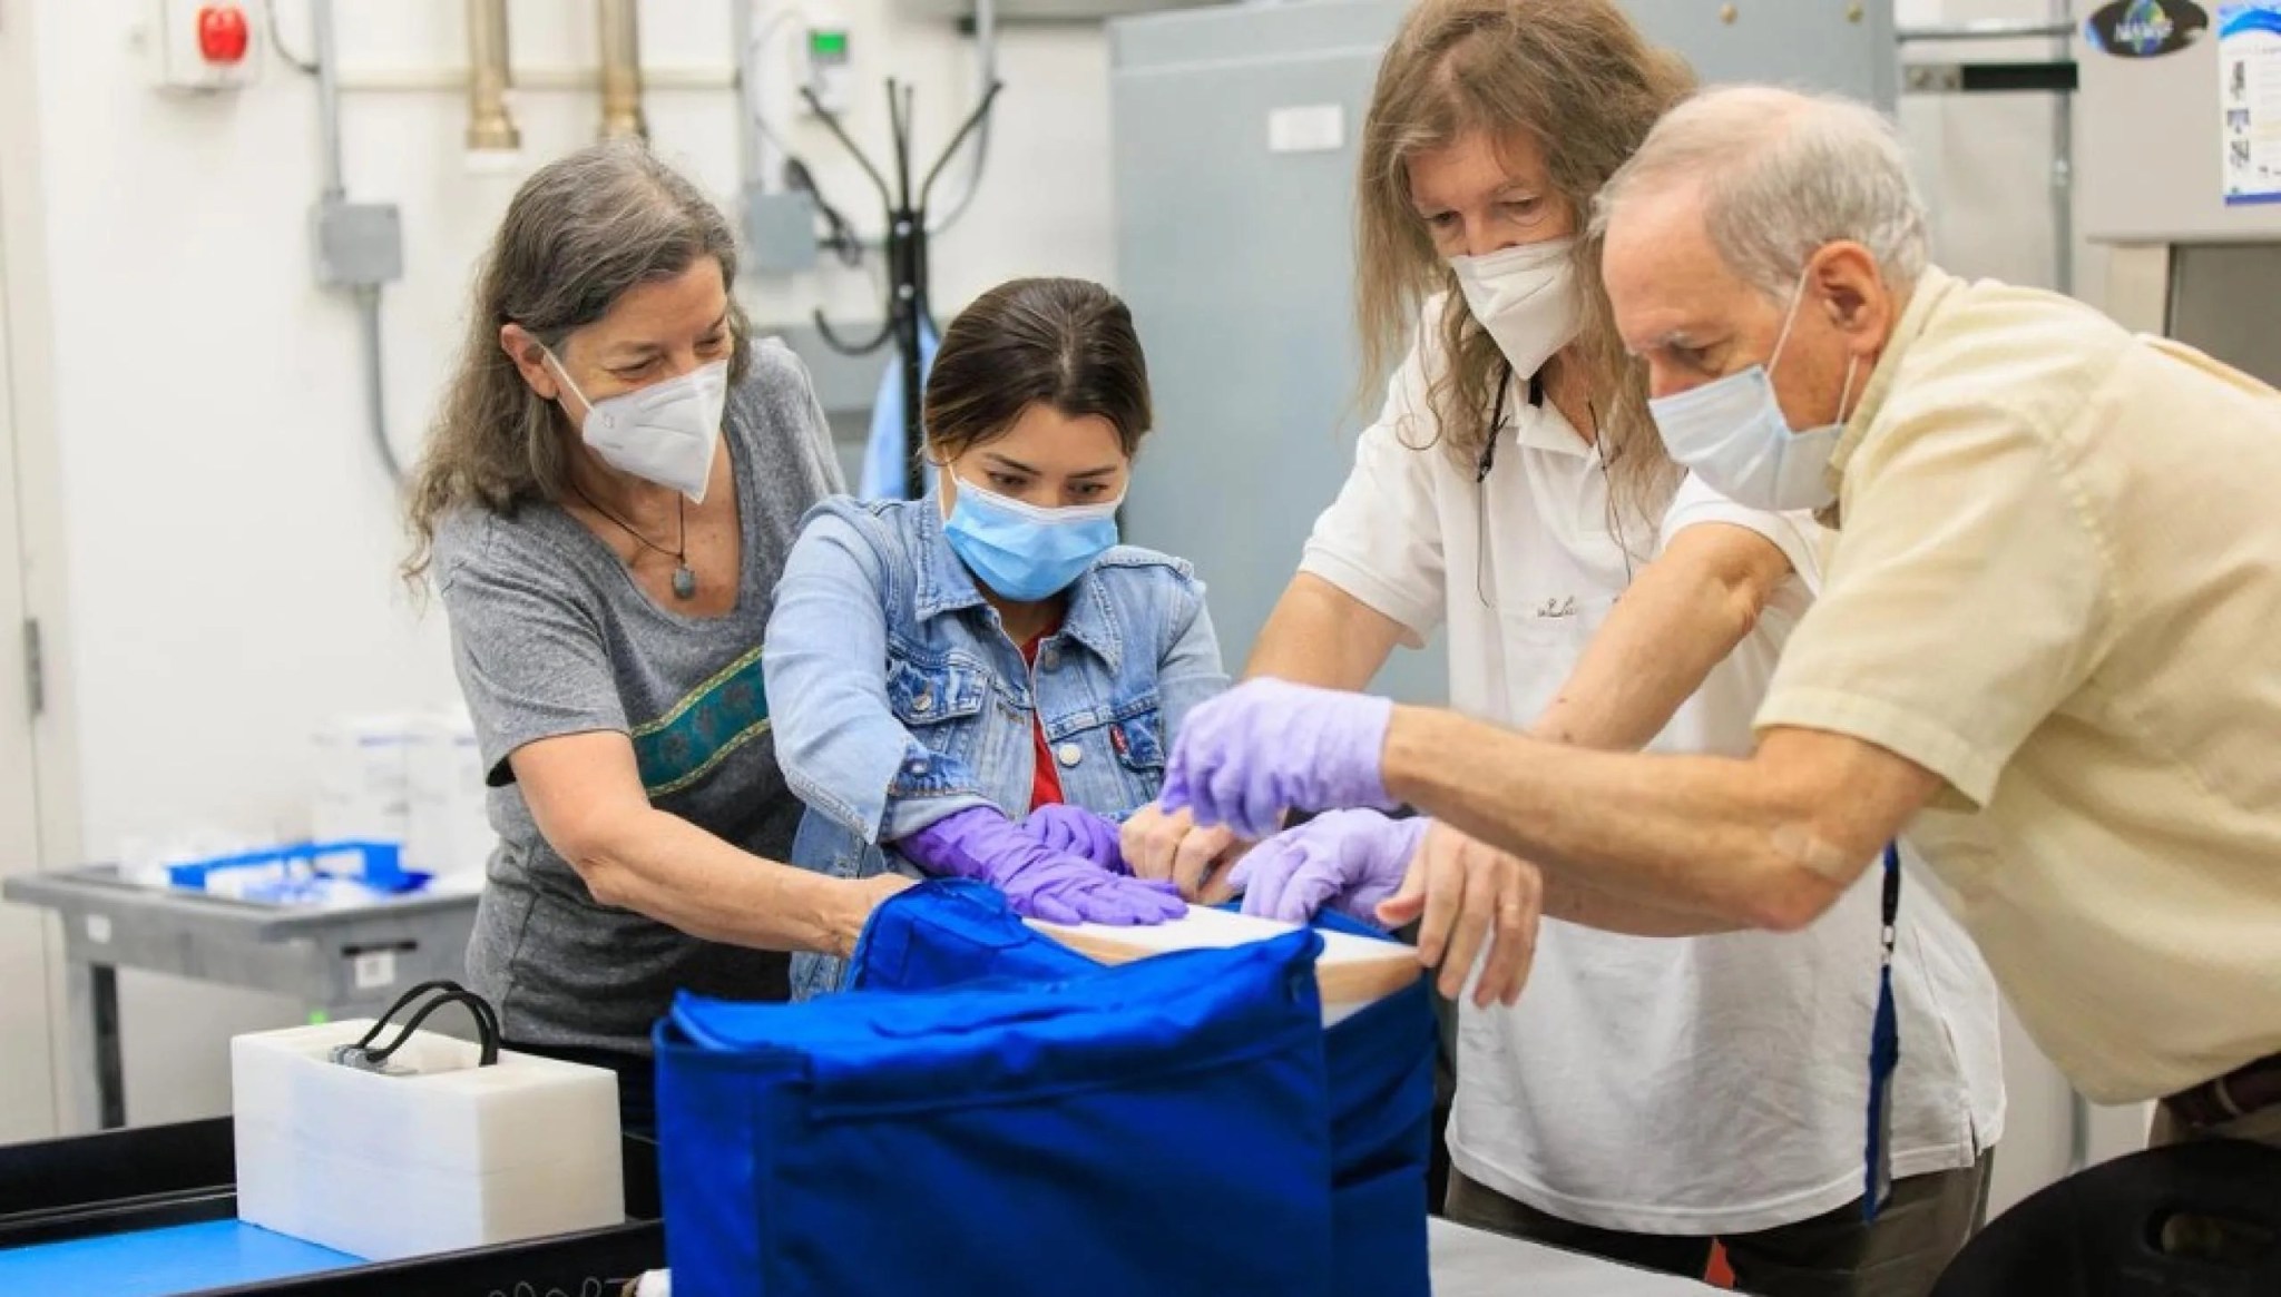
[[1829, 456], [1845, 435], [1845, 401], [1859, 358], [1845, 360], [1845, 388], [1838, 392], [1836, 422], [1818, 429], [1791, 429], [1775, 399], [1775, 362], [1797, 324], [1807, 280], [1800, 276], [1791, 294], [1791, 315], [1775, 337], [1765, 365], [1736, 369], [1724, 378], [1690, 388], [1677, 397], [1656, 397], [1647, 413], [1663, 433], [1663, 447], [1681, 467], [1704, 479], [1711, 490], [1750, 508], [1825, 508], [1836, 499], [1829, 486]]

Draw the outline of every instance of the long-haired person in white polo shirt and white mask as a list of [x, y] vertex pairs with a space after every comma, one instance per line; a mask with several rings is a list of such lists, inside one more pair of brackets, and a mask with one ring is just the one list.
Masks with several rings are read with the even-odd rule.
[[[1364, 358], [1391, 381], [1250, 675], [1362, 688], [1398, 643], [1442, 631], [1462, 713], [1576, 752], [1747, 748], [1823, 579], [1823, 536], [1804, 513], [1683, 479], [1585, 230], [1592, 194], [1690, 84], [1610, 0], [1410, 11], [1357, 180]], [[1489, 768], [1469, 745], [1442, 761]], [[1179, 827], [1159, 811], [1134, 832]], [[1930, 1286], [1982, 1215], [2003, 1131], [1996, 994], [1948, 914], [1911, 907], [1898, 928], [1900, 1021], [1927, 1044], [1893, 1094], [1900, 1204], [1864, 1224], [1854, 1058], [1877, 1005], [1873, 884], [1797, 941], [1663, 941], [1670, 919], [1597, 930], [1556, 914], [1526, 994], [1505, 1003], [1526, 944], [1489, 951], [1476, 976], [1480, 944], [1451, 932], [1439, 900], [1401, 891], [1412, 866], [1528, 873], [1460, 827], [1332, 811], [1234, 868], [1245, 905], [1271, 916], [1332, 905], [1423, 921], [1421, 957], [1462, 996], [1453, 1219], [1693, 1276], [1718, 1242], [1752, 1292]], [[1179, 841], [1195, 839], [1213, 846], [1193, 827]], [[1140, 855], [1143, 871], [1166, 868]], [[1188, 878], [1179, 855], [1170, 871]]]

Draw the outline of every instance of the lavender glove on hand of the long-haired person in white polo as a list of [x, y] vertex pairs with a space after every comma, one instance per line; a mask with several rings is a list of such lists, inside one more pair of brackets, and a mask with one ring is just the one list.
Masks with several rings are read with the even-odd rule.
[[1229, 880], [1243, 889], [1243, 912], [1307, 923], [1325, 905], [1378, 923], [1378, 903], [1394, 896], [1432, 821], [1391, 821], [1378, 811], [1330, 811], [1252, 848]]

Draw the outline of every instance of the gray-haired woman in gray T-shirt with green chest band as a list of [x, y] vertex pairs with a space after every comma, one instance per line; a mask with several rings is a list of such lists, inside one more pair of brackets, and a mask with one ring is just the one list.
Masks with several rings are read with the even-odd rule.
[[728, 221], [641, 144], [538, 169], [408, 499], [500, 834], [470, 980], [518, 1049], [614, 1067], [634, 1126], [675, 989], [782, 998], [787, 951], [846, 955], [908, 887], [780, 864], [801, 802], [760, 645], [839, 472], [734, 280]]

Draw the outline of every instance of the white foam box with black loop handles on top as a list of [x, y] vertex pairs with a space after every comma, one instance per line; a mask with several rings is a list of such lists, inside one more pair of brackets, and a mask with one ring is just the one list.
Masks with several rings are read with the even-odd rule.
[[415, 1076], [331, 1062], [370, 1028], [230, 1039], [240, 1219], [365, 1261], [625, 1222], [616, 1074], [513, 1051], [477, 1067], [429, 1030], [390, 1058]]

